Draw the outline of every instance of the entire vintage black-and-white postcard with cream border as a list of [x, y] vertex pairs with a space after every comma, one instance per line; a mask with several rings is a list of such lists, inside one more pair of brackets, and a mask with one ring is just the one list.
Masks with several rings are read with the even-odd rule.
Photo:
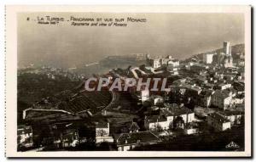
[[250, 6], [6, 6], [7, 157], [251, 157]]

